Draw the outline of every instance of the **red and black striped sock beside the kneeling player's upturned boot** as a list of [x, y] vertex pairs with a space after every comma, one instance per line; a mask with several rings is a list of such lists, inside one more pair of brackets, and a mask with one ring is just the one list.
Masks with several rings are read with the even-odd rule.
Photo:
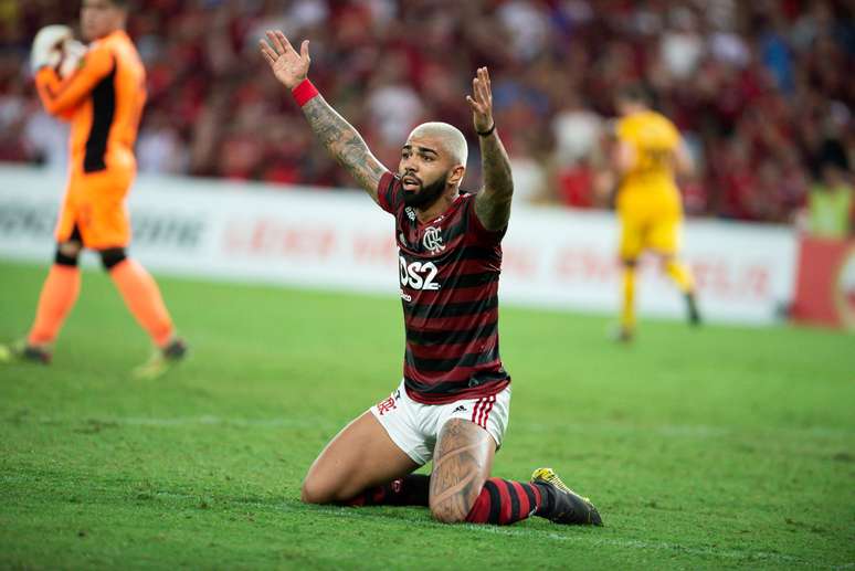
[[484, 483], [466, 521], [507, 526], [535, 515], [540, 504], [540, 489], [534, 484], [489, 478]]

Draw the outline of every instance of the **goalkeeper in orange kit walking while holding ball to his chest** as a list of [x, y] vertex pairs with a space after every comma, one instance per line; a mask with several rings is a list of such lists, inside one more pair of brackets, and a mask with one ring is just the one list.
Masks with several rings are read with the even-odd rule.
[[157, 347], [136, 376], [157, 377], [187, 352], [154, 278], [125, 252], [130, 241], [125, 198], [136, 175], [134, 142], [146, 101], [145, 68], [125, 32], [127, 11], [126, 0], [83, 0], [81, 28], [92, 42], [88, 47], [63, 25], [42, 29], [33, 42], [31, 65], [42, 104], [71, 121], [71, 163], [56, 255], [34, 322], [25, 340], [0, 346], [0, 360], [50, 362], [53, 342], [77, 299], [77, 258], [84, 247], [98, 252]]

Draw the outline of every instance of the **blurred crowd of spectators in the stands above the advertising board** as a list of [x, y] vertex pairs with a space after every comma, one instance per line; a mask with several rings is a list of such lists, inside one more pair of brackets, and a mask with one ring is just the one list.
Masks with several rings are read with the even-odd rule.
[[[27, 57], [40, 27], [77, 10], [0, 0], [0, 160], [62, 165], [64, 136], [40, 113]], [[643, 83], [699, 166], [682, 181], [689, 214], [845, 232], [854, 18], [847, 0], [139, 0], [139, 167], [352, 187], [258, 54], [264, 30], [282, 29], [310, 40], [313, 82], [391, 168], [413, 126], [445, 120], [469, 139], [474, 184], [464, 96], [487, 65], [516, 199], [606, 207], [613, 94]]]

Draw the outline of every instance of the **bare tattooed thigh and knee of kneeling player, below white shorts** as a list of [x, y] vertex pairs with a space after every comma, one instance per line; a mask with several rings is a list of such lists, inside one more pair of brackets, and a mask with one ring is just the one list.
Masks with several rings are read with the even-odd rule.
[[431, 473], [431, 511], [440, 521], [465, 521], [489, 475], [492, 438], [460, 419], [443, 426]]

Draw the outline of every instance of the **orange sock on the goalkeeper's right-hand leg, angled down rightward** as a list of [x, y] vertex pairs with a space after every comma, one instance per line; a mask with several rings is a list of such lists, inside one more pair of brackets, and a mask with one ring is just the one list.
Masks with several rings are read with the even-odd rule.
[[125, 305], [148, 332], [155, 345], [165, 347], [175, 334], [155, 278], [136, 261], [126, 258], [109, 271]]

